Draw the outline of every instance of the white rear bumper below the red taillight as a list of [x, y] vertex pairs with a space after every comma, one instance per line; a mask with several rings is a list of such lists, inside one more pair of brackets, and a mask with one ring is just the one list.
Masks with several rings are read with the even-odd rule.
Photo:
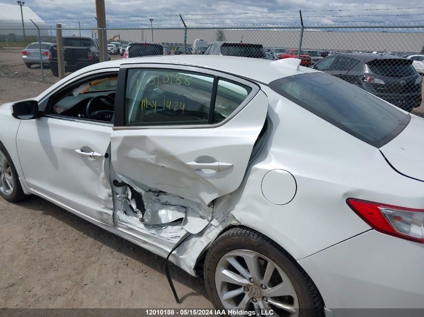
[[[424, 315], [424, 244], [370, 230], [299, 260], [335, 317]], [[400, 310], [402, 309], [402, 310]]]

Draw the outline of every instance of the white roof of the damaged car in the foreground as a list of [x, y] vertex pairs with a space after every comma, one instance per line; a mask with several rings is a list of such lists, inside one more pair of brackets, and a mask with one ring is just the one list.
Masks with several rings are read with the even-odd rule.
[[[283, 61], [283, 60], [280, 60]], [[219, 55], [163, 55], [153, 57], [134, 57], [115, 61], [94, 64], [73, 74], [85, 73], [101, 68], [119, 68], [121, 65], [132, 64], [171, 64], [184, 65], [216, 70], [256, 82], [268, 84], [276, 79], [304, 73], [319, 72], [307, 67], [293, 70], [285, 62], [271, 64], [270, 60], [247, 57], [219, 56]], [[85, 70], [85, 72], [82, 72]], [[76, 76], [77, 76], [76, 75]]]

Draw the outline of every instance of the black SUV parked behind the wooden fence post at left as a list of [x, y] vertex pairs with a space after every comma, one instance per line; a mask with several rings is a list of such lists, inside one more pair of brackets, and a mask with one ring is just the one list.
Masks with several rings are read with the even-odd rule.
[[[106, 58], [110, 59], [108, 55]], [[98, 63], [99, 47], [97, 42], [91, 38], [64, 37], [63, 62], [65, 64], [65, 72], [75, 72], [86, 66]], [[56, 45], [51, 46], [49, 49], [49, 65], [53, 76], [58, 77]]]

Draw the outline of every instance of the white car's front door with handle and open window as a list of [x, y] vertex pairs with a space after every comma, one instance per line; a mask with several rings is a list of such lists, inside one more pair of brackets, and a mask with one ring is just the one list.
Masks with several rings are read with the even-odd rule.
[[[106, 153], [113, 112], [103, 108], [112, 109], [107, 103], [113, 107], [117, 74], [95, 72], [64, 85], [41, 101], [47, 104], [43, 116], [22, 120], [17, 134], [19, 159], [31, 190], [108, 225], [113, 225], [113, 205]], [[89, 119], [87, 104], [94, 97]]]

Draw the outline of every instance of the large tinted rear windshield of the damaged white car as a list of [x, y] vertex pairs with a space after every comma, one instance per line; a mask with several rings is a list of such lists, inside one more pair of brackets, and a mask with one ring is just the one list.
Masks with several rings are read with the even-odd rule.
[[269, 87], [377, 148], [390, 142], [409, 123], [410, 116], [377, 97], [324, 73], [277, 79]]

